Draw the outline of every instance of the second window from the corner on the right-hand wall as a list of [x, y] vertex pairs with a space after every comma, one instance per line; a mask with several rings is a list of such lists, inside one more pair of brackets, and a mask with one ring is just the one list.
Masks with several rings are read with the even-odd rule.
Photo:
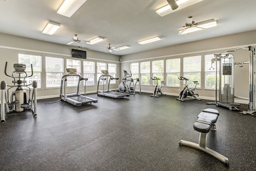
[[150, 85], [150, 61], [140, 63], [141, 85]]

